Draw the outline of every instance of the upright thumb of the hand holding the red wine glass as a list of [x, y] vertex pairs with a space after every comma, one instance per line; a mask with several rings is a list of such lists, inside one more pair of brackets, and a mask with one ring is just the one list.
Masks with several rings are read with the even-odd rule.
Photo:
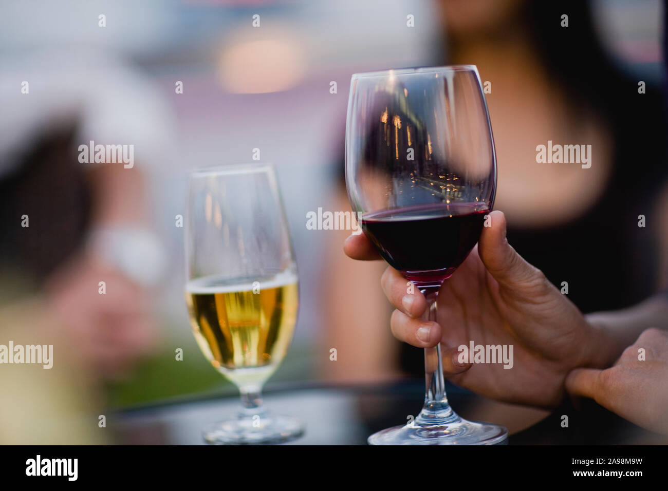
[[490, 213], [492, 226], [482, 229], [478, 254], [487, 271], [505, 287], [519, 287], [544, 280], [540, 269], [530, 265], [513, 249], [506, 239], [506, 216], [495, 210]]

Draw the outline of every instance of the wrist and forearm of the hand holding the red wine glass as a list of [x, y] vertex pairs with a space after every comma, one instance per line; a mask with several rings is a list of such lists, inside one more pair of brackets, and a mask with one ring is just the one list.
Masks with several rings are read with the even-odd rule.
[[628, 309], [596, 312], [585, 317], [593, 328], [596, 340], [590, 365], [610, 367], [645, 329], [668, 329], [668, 292], [659, 293]]

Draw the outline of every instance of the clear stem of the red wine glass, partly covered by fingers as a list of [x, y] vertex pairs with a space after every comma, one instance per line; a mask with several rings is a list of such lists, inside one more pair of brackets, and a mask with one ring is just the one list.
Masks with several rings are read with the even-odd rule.
[[[425, 289], [422, 291], [427, 299], [426, 318], [436, 322], [437, 291]], [[457, 418], [448, 404], [446, 383], [443, 376], [443, 360], [440, 343], [424, 350], [425, 395], [424, 406], [415, 421], [421, 425], [444, 424]]]

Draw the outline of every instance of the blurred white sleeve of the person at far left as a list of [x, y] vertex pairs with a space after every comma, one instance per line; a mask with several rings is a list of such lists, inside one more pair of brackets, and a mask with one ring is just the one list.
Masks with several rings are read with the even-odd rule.
[[0, 64], [0, 177], [35, 138], [65, 122], [75, 122], [79, 130], [73, 150], [90, 140], [133, 145], [142, 166], [168, 155], [174, 116], [160, 88], [118, 57], [56, 51]]

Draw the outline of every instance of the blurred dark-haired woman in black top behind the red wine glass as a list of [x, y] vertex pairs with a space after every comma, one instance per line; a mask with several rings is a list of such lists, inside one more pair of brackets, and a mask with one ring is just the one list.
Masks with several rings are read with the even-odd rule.
[[[616, 67], [582, 1], [442, 1], [446, 46], [439, 64], [475, 64], [491, 82], [486, 100], [498, 162], [495, 208], [528, 263], [584, 313], [629, 307], [667, 283], [666, 121], [661, 88]], [[562, 14], [568, 27], [562, 27]], [[658, 19], [657, 19], [658, 21]], [[540, 164], [536, 146], [591, 144], [591, 168]], [[341, 166], [332, 209], [349, 209]], [[647, 225], [639, 228], [639, 215]], [[385, 265], [355, 264], [333, 240], [326, 307], [327, 346], [339, 380], [424, 373], [422, 350], [389, 333], [378, 278]], [[343, 349], [342, 349], [343, 347]], [[514, 411], [514, 410], [512, 410]], [[535, 414], [535, 418], [546, 413]], [[486, 419], [488, 416], [480, 416]], [[530, 418], [526, 418], [529, 421]], [[512, 424], [507, 425], [512, 431]]]

